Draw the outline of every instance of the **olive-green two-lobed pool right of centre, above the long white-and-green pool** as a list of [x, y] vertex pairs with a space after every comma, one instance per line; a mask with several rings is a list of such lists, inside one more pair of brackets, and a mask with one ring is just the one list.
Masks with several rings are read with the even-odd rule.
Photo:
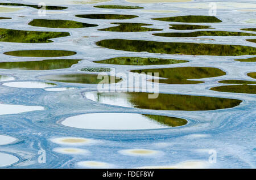
[[[167, 79], [159, 79], [159, 83], [167, 84], [196, 84], [204, 83], [202, 81], [191, 81], [187, 79], [211, 78], [223, 76], [226, 73], [213, 67], [175, 67], [175, 68], [153, 68], [146, 70], [132, 70], [131, 72], [152, 74], [158, 72], [159, 76]], [[154, 80], [153, 80], [154, 82]]]

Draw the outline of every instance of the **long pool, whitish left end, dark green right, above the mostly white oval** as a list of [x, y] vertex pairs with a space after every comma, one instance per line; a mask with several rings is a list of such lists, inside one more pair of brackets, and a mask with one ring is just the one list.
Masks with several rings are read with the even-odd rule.
[[[101, 98], [119, 105], [115, 98], [123, 98], [131, 102], [134, 108], [155, 110], [215, 110], [233, 108], [240, 105], [241, 100], [207, 96], [172, 95], [160, 93], [158, 98], [148, 98], [151, 93], [97, 93], [97, 101]], [[103, 102], [104, 103], [104, 102]], [[120, 104], [123, 106], [123, 103]], [[129, 105], [124, 105], [129, 106]]]

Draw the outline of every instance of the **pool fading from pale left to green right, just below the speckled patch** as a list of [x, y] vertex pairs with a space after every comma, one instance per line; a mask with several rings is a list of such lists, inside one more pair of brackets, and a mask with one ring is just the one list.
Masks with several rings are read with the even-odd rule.
[[121, 81], [120, 79], [114, 76], [105, 75], [98, 79], [97, 74], [61, 74], [61, 75], [47, 75], [41, 76], [42, 79], [51, 80], [53, 82], [62, 82], [62, 83], [81, 83], [81, 84], [98, 84], [101, 83], [102, 80], [108, 81], [108, 83], [101, 83], [101, 84], [110, 84], [110, 80], [112, 78], [115, 79], [115, 83]]

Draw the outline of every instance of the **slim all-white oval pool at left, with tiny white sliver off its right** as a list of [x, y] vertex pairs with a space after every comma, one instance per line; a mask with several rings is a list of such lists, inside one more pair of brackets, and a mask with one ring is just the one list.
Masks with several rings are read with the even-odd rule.
[[14, 88], [48, 88], [56, 86], [56, 84], [46, 82], [10, 82], [3, 83], [3, 85]]

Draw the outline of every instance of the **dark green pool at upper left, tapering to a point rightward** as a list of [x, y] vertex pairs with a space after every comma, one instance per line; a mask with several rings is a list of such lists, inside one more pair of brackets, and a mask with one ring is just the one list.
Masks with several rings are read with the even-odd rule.
[[96, 27], [96, 24], [87, 24], [75, 22], [73, 20], [56, 20], [56, 19], [34, 19], [29, 25], [46, 28], [88, 28]]

